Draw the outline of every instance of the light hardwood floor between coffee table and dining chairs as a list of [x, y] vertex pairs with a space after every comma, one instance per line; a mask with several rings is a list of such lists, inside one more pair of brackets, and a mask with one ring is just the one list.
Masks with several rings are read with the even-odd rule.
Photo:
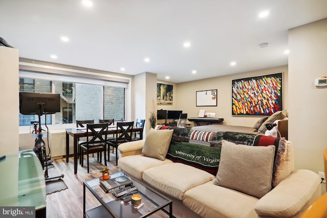
[[[47, 218], [83, 217], [83, 181], [100, 177], [99, 170], [104, 167], [104, 161], [102, 160], [102, 163], [98, 162], [96, 154], [94, 157], [90, 155], [89, 160], [90, 173], [87, 173], [85, 156], [84, 166], [81, 167], [78, 164], [77, 174], [74, 174], [74, 159], [72, 157], [69, 158], [68, 163], [66, 163], [65, 158], [54, 160], [53, 165], [55, 167], [49, 169], [49, 176], [64, 174], [63, 181], [68, 188], [46, 195]], [[107, 161], [107, 166], [110, 173], [119, 171], [119, 167], [115, 165], [115, 154], [112, 154], [112, 152], [110, 153], [110, 161]], [[89, 191], [86, 191], [86, 198], [86, 210], [100, 206], [100, 203]]]

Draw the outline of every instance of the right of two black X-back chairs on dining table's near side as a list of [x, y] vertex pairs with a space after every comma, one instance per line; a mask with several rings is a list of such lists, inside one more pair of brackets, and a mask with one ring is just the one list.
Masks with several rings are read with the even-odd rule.
[[[132, 130], [134, 126], [134, 121], [132, 122], [122, 122], [117, 123], [117, 131], [115, 133], [115, 138], [112, 140], [108, 140], [108, 151], [109, 146], [112, 147], [112, 149], [116, 149], [116, 165], [118, 164], [118, 146], [121, 143], [131, 141], [132, 139]], [[109, 154], [109, 153], [108, 153]], [[108, 155], [109, 160], [109, 155]]]

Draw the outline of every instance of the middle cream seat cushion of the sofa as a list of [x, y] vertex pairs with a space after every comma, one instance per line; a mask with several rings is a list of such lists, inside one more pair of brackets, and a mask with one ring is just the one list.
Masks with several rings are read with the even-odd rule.
[[179, 200], [185, 191], [214, 178], [201, 169], [182, 163], [163, 164], [143, 172], [145, 182]]

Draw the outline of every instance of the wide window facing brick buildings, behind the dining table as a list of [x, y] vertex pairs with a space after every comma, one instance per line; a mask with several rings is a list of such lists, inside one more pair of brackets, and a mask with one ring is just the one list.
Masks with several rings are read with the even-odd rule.
[[[84, 84], [62, 81], [49, 81], [33, 78], [19, 78], [19, 91], [59, 93], [61, 111], [46, 115], [46, 124], [68, 124], [76, 120], [125, 117], [125, 88], [96, 84]], [[19, 126], [30, 126], [38, 120], [37, 115], [19, 114]], [[44, 124], [45, 116], [41, 116]]]

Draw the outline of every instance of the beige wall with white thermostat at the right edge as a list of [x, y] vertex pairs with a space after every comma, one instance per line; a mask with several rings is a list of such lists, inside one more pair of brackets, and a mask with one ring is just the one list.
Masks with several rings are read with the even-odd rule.
[[327, 148], [327, 87], [314, 80], [327, 76], [327, 18], [289, 30], [289, 139], [295, 168], [323, 172]]

